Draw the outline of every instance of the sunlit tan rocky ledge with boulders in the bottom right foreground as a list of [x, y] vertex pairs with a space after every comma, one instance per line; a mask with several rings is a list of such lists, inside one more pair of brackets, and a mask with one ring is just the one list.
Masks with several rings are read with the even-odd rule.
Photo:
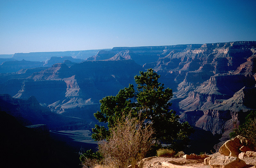
[[148, 157], [143, 168], [256, 168], [256, 152], [251, 142], [237, 136], [212, 155], [184, 155], [181, 158]]

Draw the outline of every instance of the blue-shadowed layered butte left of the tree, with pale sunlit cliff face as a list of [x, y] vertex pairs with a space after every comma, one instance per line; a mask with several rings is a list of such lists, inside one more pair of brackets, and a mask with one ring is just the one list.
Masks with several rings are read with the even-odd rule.
[[[57, 63], [17, 79], [20, 90], [13, 97], [28, 99], [33, 95], [53, 112], [94, 122], [99, 100], [134, 83], [141, 70], [133, 60], [86, 61], [71, 67]], [[10, 84], [10, 80], [6, 82]]]

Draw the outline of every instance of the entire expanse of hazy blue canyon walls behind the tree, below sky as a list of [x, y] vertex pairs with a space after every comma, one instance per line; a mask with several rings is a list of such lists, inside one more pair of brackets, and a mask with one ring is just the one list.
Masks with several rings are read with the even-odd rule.
[[[139, 71], [153, 68], [161, 75], [159, 82], [174, 92], [170, 109], [180, 113], [180, 121], [218, 137], [216, 144], [229, 138], [233, 121], [243, 122], [256, 109], [255, 48], [256, 41], [236, 41], [17, 53], [16, 61], [0, 65], [0, 94], [34, 96], [48, 110], [79, 119], [76, 125], [93, 125], [100, 99], [116, 95], [134, 84]], [[204, 135], [193, 138], [208, 141]]]

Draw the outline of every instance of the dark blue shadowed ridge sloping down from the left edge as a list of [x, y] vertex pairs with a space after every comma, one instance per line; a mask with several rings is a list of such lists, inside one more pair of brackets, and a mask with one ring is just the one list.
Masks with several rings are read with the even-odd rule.
[[47, 128], [55, 130], [88, 129], [91, 127], [85, 120], [52, 113], [49, 108], [41, 106], [33, 96], [27, 100], [22, 100], [2, 94], [0, 95], [0, 111], [14, 116], [23, 126], [45, 124]]

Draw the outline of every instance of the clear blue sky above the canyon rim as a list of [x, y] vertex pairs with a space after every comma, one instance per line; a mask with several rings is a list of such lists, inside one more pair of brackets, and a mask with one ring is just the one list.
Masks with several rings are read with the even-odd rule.
[[256, 0], [0, 0], [0, 54], [256, 40]]

